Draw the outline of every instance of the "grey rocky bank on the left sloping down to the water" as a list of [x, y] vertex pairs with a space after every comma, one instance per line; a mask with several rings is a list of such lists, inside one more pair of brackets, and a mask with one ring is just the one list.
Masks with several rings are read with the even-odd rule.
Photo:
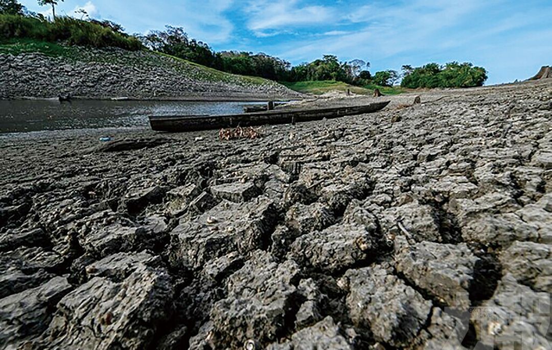
[[57, 57], [0, 54], [0, 98], [279, 100], [300, 95], [277, 82], [226, 74], [151, 51], [65, 48]]

